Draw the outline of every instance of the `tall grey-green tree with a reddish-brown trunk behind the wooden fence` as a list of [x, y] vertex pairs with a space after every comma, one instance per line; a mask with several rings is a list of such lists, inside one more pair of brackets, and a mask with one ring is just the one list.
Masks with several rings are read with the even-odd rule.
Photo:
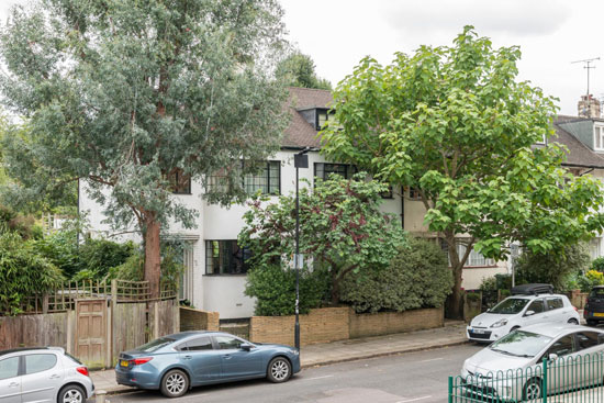
[[[283, 88], [276, 0], [40, 0], [0, 35], [3, 103], [29, 121], [10, 170], [40, 192], [78, 178], [115, 227], [137, 223], [145, 279], [159, 294], [160, 228], [194, 214], [172, 197], [189, 178], [228, 186], [278, 149]], [[31, 160], [41, 171], [32, 177]], [[55, 180], [45, 180], [54, 177]]]

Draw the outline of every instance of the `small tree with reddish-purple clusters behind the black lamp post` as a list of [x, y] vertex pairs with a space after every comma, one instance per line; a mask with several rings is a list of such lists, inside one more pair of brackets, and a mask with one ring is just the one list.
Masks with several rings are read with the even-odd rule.
[[[363, 173], [350, 180], [332, 175], [300, 190], [300, 253], [306, 265], [329, 271], [333, 303], [347, 275], [387, 267], [404, 243], [400, 222], [379, 210], [385, 190]], [[250, 249], [253, 268], [280, 266], [295, 250], [295, 198], [266, 203], [257, 197], [249, 204], [239, 244]]]

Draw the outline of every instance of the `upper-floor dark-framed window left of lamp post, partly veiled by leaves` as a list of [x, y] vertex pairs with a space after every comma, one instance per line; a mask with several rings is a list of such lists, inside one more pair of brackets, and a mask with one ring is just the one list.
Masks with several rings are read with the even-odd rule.
[[[241, 161], [242, 169], [244, 161]], [[260, 170], [255, 173], [246, 173], [242, 178], [242, 186], [246, 193], [255, 194], [281, 194], [281, 161], [265, 161]], [[228, 191], [228, 178], [224, 169], [215, 171], [208, 178], [206, 191], [226, 193]]]

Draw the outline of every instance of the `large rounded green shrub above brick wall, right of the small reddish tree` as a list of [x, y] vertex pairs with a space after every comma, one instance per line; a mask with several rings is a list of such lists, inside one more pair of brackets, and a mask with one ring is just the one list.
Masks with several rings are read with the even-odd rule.
[[358, 313], [402, 312], [441, 306], [451, 287], [452, 272], [443, 250], [435, 243], [410, 238], [389, 267], [346, 279], [340, 299]]

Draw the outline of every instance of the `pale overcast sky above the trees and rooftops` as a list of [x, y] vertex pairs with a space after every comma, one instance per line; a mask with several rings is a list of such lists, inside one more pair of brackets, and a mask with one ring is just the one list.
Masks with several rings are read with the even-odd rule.
[[[0, 0], [0, 21], [13, 3]], [[365, 56], [382, 64], [420, 45], [451, 45], [473, 25], [495, 47], [521, 46], [519, 79], [559, 99], [560, 113], [577, 114], [586, 70], [572, 61], [602, 57], [590, 70], [590, 92], [604, 100], [601, 0], [279, 0], [289, 40], [310, 55], [318, 76], [335, 86]]]

